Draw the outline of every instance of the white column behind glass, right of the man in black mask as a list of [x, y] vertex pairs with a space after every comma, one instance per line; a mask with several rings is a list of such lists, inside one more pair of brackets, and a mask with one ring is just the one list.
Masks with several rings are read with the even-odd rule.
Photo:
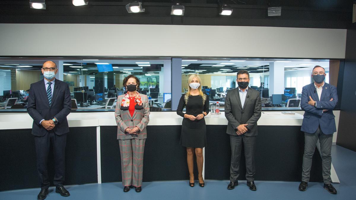
[[282, 62], [269, 63], [269, 96], [284, 94], [284, 65]]

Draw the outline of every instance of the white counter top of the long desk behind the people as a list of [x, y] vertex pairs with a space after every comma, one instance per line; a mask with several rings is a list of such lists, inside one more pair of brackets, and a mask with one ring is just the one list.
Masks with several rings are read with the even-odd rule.
[[[69, 127], [116, 126], [114, 112], [72, 112], [67, 117]], [[183, 118], [176, 112], [151, 112], [148, 126], [182, 125]], [[278, 111], [263, 111], [258, 125], [264, 126], [301, 126], [300, 114], [284, 115]], [[0, 129], [32, 128], [32, 118], [27, 113], [0, 114]], [[220, 115], [205, 117], [206, 125], [227, 125], [224, 112]]]

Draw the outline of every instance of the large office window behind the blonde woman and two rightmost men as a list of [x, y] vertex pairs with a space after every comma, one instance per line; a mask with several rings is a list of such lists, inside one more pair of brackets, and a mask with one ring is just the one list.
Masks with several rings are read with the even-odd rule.
[[302, 88], [313, 82], [311, 74], [315, 65], [325, 68], [326, 83], [330, 76], [337, 80], [338, 74], [329, 73], [328, 59], [183, 59], [182, 92], [187, 90], [189, 75], [197, 73], [203, 91], [210, 96], [210, 104], [219, 102], [224, 109], [226, 92], [237, 87], [236, 74], [245, 69], [250, 73], [249, 86], [260, 91], [262, 107], [300, 109]]

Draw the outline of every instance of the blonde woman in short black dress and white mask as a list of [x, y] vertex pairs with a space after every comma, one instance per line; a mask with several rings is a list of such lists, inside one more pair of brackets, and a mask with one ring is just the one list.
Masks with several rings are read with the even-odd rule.
[[[204, 117], [209, 113], [209, 97], [201, 91], [201, 79], [192, 74], [188, 79], [188, 92], [179, 100], [177, 114], [184, 117], [180, 143], [187, 147], [189, 185], [194, 186], [194, 153], [197, 156], [199, 186], [204, 187], [203, 147], [206, 146], [206, 125]], [[185, 106], [185, 113], [182, 112]]]

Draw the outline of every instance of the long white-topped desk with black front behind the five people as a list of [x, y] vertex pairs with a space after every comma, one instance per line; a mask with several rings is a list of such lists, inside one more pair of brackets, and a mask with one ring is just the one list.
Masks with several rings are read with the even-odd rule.
[[[257, 122], [255, 179], [300, 181], [304, 152], [304, 133], [300, 131], [303, 116], [263, 112]], [[205, 179], [229, 180], [230, 136], [225, 133], [227, 120], [224, 112], [221, 115], [208, 114], [204, 118], [207, 146], [203, 176]], [[121, 181], [114, 112], [72, 112], [67, 119], [70, 132], [67, 135], [64, 184]], [[179, 144], [182, 120], [176, 112], [151, 112], [143, 159], [143, 181], [189, 179], [187, 151]], [[4, 163], [1, 165], [0, 191], [39, 187], [32, 122], [27, 113], [0, 114], [0, 159]], [[317, 152], [314, 153], [310, 181], [323, 180], [321, 158]], [[50, 156], [49, 160], [53, 157]], [[242, 153], [239, 180], [245, 179], [244, 165]], [[53, 170], [49, 167], [49, 174], [53, 174]]]

